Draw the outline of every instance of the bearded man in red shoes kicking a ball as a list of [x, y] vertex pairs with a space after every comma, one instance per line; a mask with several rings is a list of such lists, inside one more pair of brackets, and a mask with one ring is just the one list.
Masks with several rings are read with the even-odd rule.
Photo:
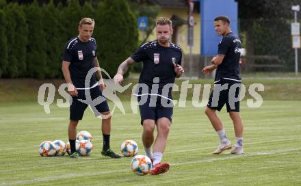
[[[162, 174], [170, 168], [168, 163], [161, 163], [161, 159], [172, 122], [171, 90], [175, 77], [181, 77], [184, 72], [181, 67], [181, 48], [170, 42], [172, 31], [172, 21], [168, 18], [159, 18], [156, 23], [157, 40], [142, 44], [131, 57], [120, 64], [114, 77], [114, 81], [120, 83], [129, 65], [143, 62], [139, 85], [146, 85], [148, 92], [144, 94], [143, 88], [139, 88], [138, 102], [146, 101], [143, 105], [139, 105], [139, 109], [143, 126], [144, 150], [146, 156], [153, 161], [150, 174]], [[157, 126], [157, 137], [154, 142], [155, 126]]]

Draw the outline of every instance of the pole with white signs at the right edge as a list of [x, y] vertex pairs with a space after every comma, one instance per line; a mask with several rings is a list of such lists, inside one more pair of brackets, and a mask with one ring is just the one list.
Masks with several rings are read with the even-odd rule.
[[300, 49], [300, 23], [297, 22], [297, 13], [300, 5], [291, 6], [294, 13], [294, 22], [291, 23], [291, 36], [293, 37], [293, 49], [295, 49], [295, 73], [298, 76], [298, 49]]

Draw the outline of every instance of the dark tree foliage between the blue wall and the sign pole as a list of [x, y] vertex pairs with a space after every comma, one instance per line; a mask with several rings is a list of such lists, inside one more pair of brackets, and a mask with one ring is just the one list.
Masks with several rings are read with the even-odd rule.
[[[300, 4], [300, 0], [238, 1], [240, 33], [246, 36], [244, 47], [248, 55], [277, 55], [280, 62], [286, 64], [285, 70], [292, 70], [291, 5], [296, 4]], [[256, 60], [256, 63], [261, 61]], [[252, 64], [254, 60], [248, 60], [248, 63]], [[262, 63], [266, 64], [266, 61]]]

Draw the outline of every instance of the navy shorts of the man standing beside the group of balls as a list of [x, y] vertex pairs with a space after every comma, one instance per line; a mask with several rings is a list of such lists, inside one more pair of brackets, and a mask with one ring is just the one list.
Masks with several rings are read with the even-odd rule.
[[70, 120], [82, 120], [83, 119], [83, 113], [85, 112], [88, 105], [91, 105], [93, 103], [93, 100], [95, 98], [98, 98], [99, 96], [103, 97], [103, 100], [101, 100], [101, 103], [96, 105], [94, 108], [92, 107], [92, 110], [95, 114], [95, 116], [99, 116], [99, 113], [109, 111], [109, 106], [107, 105], [107, 100], [103, 96], [101, 89], [99, 86], [96, 86], [95, 88], [91, 88], [88, 92], [90, 93], [92, 102], [82, 103], [79, 101], [79, 99], [86, 100], [85, 90], [77, 90], [78, 94], [76, 97], [72, 97], [72, 104], [70, 105]]

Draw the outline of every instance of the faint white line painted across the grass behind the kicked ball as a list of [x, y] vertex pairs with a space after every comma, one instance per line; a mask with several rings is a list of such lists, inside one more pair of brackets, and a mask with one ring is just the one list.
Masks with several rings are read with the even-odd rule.
[[[212, 158], [207, 159], [200, 159], [199, 161], [187, 161], [183, 163], [172, 163], [170, 165], [177, 166], [177, 165], [187, 165], [187, 164], [198, 164], [198, 163], [205, 163], [205, 162], [213, 162], [213, 161], [223, 161], [227, 159], [239, 159], [243, 157], [257, 157], [257, 156], [263, 156], [263, 155], [277, 155], [277, 154], [285, 154], [287, 152], [292, 152], [296, 150], [301, 150], [301, 148], [289, 148], [289, 149], [282, 149], [282, 150], [274, 150], [274, 151], [267, 151], [267, 152], [257, 152], [257, 153], [250, 153], [250, 154], [244, 154], [244, 155], [232, 155], [229, 157], [222, 157], [218, 158], [218, 155], [212, 155]], [[14, 181], [14, 182], [6, 182], [1, 183], [0, 185], [23, 185], [23, 184], [30, 184], [30, 183], [40, 183], [45, 181], [55, 181], [65, 178], [73, 178], [78, 176], [97, 176], [99, 174], [112, 174], [116, 172], [129, 172], [129, 170], [112, 170], [112, 171], [99, 171], [99, 172], [86, 172], [81, 174], [66, 174], [66, 175], [60, 175], [60, 176], [48, 176], [44, 178], [34, 178], [31, 180], [25, 180], [25, 181]]]

